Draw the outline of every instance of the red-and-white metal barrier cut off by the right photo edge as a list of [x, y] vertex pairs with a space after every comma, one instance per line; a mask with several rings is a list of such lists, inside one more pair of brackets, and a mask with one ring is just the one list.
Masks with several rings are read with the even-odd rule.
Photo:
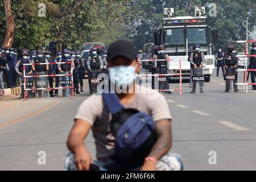
[[[248, 85], [256, 85], [255, 83], [249, 83], [247, 76], [248, 72], [256, 71], [256, 69], [248, 69], [247, 68], [247, 57], [256, 57], [256, 55], [248, 55], [247, 54], [247, 43], [254, 43], [255, 40], [238, 40], [237, 43], [245, 43], [245, 54], [244, 55], [237, 55], [236, 57], [245, 57], [245, 67], [244, 69], [237, 69], [237, 72], [243, 72], [243, 82], [242, 83], [236, 83], [236, 85], [243, 85], [243, 92], [248, 93]], [[245, 88], [246, 87], [246, 88]]]

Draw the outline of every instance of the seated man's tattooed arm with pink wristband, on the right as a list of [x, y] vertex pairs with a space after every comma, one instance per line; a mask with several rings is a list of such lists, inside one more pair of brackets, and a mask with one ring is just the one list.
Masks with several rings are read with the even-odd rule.
[[[156, 122], [156, 133], [158, 134], [158, 140], [153, 146], [148, 156], [159, 160], [162, 156], [166, 155], [172, 147], [172, 133], [171, 133], [171, 121], [170, 119], [162, 119]], [[151, 160], [147, 160], [142, 170], [151, 171], [156, 169], [156, 164]]]

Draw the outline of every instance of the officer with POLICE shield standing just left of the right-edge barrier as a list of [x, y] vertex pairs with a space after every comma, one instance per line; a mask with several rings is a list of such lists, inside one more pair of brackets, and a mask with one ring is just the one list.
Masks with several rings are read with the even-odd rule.
[[[235, 76], [237, 69], [237, 59], [236, 56], [233, 55], [234, 47], [228, 46], [228, 52], [225, 54], [224, 66], [226, 69], [226, 76]], [[236, 77], [236, 76], [235, 76]], [[238, 92], [236, 79], [233, 80], [234, 92]], [[225, 92], [229, 92], [231, 89], [231, 81], [226, 78], [226, 89]]]

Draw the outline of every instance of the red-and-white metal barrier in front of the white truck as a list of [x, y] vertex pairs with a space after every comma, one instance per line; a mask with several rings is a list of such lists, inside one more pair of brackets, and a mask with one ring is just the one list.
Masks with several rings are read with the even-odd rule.
[[180, 96], [182, 96], [182, 91], [183, 91], [183, 88], [182, 88], [182, 73], [181, 73], [181, 60], [180, 59], [158, 59], [158, 60], [155, 60], [155, 59], [147, 59], [147, 60], [140, 60], [140, 61], [175, 61], [175, 60], [179, 60], [179, 64], [180, 64], [180, 73], [179, 74], [158, 74], [156, 73], [155, 75], [137, 75], [137, 77], [152, 77], [152, 76], [155, 76], [155, 77], [159, 77], [159, 76], [179, 76], [180, 77], [180, 89], [166, 89], [166, 90], [155, 90], [155, 91], [158, 91], [158, 92], [165, 92], [165, 91], [173, 91], [173, 92], [180, 92]]

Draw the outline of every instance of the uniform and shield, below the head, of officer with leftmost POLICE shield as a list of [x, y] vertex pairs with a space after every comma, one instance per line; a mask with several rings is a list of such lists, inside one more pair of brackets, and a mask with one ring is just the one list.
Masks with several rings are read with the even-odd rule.
[[[19, 80], [20, 80], [20, 84], [22, 86], [22, 92], [20, 93], [20, 98], [24, 98], [24, 78], [23, 78], [23, 64], [31, 64], [32, 61], [30, 60], [30, 57], [28, 56], [28, 58], [26, 60], [23, 59], [23, 57], [18, 60], [18, 62], [15, 65], [15, 71], [16, 73], [20, 74], [22, 73], [22, 75], [19, 75]], [[25, 66], [25, 73], [26, 75], [32, 75], [32, 66], [31, 65], [26, 65]], [[33, 86], [33, 78], [27, 78], [26, 79], [26, 88], [30, 89]], [[27, 97], [28, 98], [32, 98], [32, 90], [29, 90], [27, 92]]]

